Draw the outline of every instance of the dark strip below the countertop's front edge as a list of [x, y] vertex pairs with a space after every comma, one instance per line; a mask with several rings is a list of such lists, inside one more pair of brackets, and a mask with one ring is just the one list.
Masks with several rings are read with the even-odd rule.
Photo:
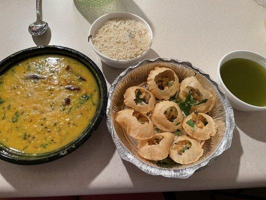
[[175, 191], [131, 194], [106, 194], [87, 196], [58, 196], [58, 197], [31, 197], [31, 198], [0, 198], [0, 200], [240, 200], [266, 199], [266, 187], [226, 190], [203, 191]]

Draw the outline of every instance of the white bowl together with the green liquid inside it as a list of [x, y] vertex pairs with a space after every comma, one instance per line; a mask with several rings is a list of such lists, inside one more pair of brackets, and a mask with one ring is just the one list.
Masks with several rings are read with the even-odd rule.
[[219, 87], [242, 111], [266, 110], [266, 57], [236, 50], [222, 57], [217, 68]]

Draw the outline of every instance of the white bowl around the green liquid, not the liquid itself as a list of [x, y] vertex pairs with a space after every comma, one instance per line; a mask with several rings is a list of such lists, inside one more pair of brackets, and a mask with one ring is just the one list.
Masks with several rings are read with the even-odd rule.
[[243, 100], [240, 100], [226, 87], [220, 74], [220, 68], [223, 65], [223, 63], [233, 58], [251, 59], [253, 61], [258, 62], [259, 64], [261, 64], [262, 66], [266, 68], [266, 57], [261, 54], [255, 53], [253, 51], [249, 51], [249, 50], [236, 50], [236, 51], [229, 52], [224, 57], [222, 57], [217, 67], [218, 85], [220, 89], [222, 89], [225, 92], [225, 94], [228, 97], [228, 100], [230, 101], [231, 105], [234, 108], [242, 110], [242, 111], [266, 110], [266, 106], [251, 105], [249, 103], [244, 102]]

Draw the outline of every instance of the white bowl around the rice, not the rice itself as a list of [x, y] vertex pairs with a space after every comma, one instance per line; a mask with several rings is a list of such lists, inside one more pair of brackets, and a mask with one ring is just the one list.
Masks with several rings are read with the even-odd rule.
[[148, 47], [148, 49], [146, 51], [144, 51], [141, 55], [137, 56], [136, 58], [132, 58], [132, 59], [127, 59], [127, 60], [122, 60], [122, 59], [113, 59], [110, 57], [107, 57], [106, 55], [103, 55], [101, 52], [99, 52], [93, 45], [92, 39], [95, 36], [96, 31], [108, 20], [113, 19], [113, 18], [120, 18], [120, 17], [124, 17], [124, 18], [131, 18], [131, 19], [135, 19], [135, 20], [139, 20], [141, 21], [144, 25], [146, 25], [148, 31], [150, 32], [150, 36], [151, 36], [151, 44], [152, 44], [152, 40], [153, 40], [153, 33], [152, 33], [152, 29], [150, 27], [150, 25], [141, 17], [129, 13], [129, 12], [111, 12], [108, 14], [104, 14], [102, 16], [100, 16], [99, 18], [97, 18], [91, 25], [90, 30], [89, 30], [89, 43], [91, 45], [91, 47], [93, 48], [93, 50], [97, 53], [97, 55], [100, 56], [101, 60], [103, 62], [105, 62], [106, 64], [116, 67], [116, 68], [127, 68], [131, 65], [133, 65], [134, 63], [137, 63], [147, 52], [148, 50], [151, 48], [151, 44]]

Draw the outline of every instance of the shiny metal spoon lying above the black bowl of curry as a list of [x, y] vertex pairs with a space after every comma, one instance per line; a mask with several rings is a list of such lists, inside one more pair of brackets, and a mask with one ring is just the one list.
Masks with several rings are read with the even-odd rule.
[[35, 22], [29, 24], [28, 26], [28, 31], [33, 36], [41, 35], [48, 29], [48, 23], [41, 20], [39, 8], [40, 0], [36, 0], [37, 19]]

